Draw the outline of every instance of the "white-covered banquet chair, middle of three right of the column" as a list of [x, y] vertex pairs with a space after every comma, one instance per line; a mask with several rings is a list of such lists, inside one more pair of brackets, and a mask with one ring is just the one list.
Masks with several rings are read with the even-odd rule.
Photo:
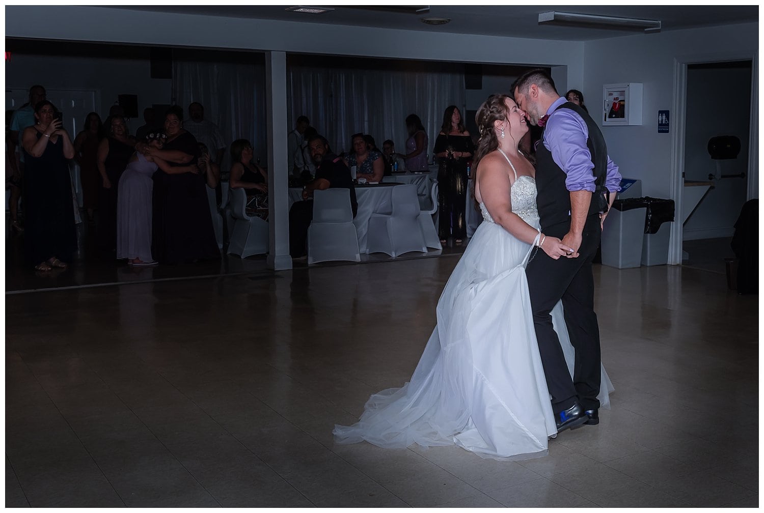
[[410, 251], [427, 253], [427, 244], [419, 227], [419, 200], [416, 186], [393, 186], [392, 212], [374, 213], [369, 219], [366, 253], [387, 253], [397, 257]]

